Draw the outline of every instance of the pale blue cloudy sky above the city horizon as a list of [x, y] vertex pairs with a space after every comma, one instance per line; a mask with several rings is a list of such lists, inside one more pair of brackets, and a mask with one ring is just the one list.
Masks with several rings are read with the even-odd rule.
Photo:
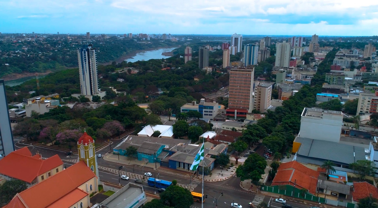
[[0, 0], [0, 32], [378, 35], [377, 0]]

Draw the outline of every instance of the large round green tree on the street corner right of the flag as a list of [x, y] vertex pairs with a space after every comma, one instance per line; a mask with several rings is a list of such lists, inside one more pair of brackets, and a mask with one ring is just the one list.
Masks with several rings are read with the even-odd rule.
[[259, 154], [250, 154], [242, 165], [236, 169], [236, 176], [240, 180], [258, 181], [265, 173], [266, 160]]

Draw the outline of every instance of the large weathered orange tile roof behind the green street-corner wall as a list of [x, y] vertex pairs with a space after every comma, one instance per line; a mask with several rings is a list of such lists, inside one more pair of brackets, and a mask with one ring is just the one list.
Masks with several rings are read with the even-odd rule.
[[305, 188], [310, 193], [315, 194], [318, 184], [319, 173], [305, 167], [299, 162], [292, 161], [282, 163], [273, 179], [274, 185], [296, 185], [297, 188]]

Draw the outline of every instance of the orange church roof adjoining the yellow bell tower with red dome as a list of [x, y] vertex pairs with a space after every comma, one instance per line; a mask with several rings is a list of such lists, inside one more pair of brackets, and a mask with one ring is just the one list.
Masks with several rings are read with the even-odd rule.
[[[28, 208], [69, 207], [65, 205], [73, 205], [79, 200], [79, 197], [81, 197], [80, 199], [84, 198], [82, 193], [77, 192], [77, 188], [93, 177], [96, 177], [96, 175], [87, 167], [85, 162], [78, 162], [64, 171], [60, 171], [39, 184], [17, 194], [12, 201], [3, 208], [17, 207], [12, 205], [19, 200], [23, 201]], [[74, 194], [72, 192], [74, 192]], [[73, 197], [73, 195], [76, 194], [78, 196]], [[88, 195], [88, 193], [85, 194]], [[65, 200], [60, 200], [62, 198], [65, 198]]]

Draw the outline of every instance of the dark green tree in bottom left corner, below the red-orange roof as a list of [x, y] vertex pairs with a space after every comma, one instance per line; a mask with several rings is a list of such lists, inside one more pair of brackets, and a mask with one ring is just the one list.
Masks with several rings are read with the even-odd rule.
[[17, 193], [26, 188], [28, 185], [22, 180], [6, 180], [3, 185], [0, 185], [0, 206], [7, 205]]

